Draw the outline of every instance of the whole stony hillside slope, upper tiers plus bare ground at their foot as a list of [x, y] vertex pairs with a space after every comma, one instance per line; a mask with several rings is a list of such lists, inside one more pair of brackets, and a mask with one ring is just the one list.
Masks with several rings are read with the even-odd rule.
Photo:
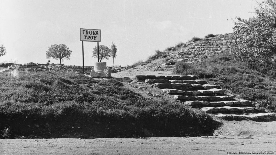
[[[120, 73], [112, 74], [115, 77], [131, 76], [131, 74], [170, 74], [177, 62], [193, 63], [212, 57], [214, 54], [228, 52], [232, 44], [231, 34], [220, 34], [215, 37], [180, 43], [175, 47], [168, 47], [161, 53], [149, 57], [145, 62], [138, 62]], [[154, 72], [153, 72], [154, 71]], [[173, 74], [176, 75], [176, 74]]]

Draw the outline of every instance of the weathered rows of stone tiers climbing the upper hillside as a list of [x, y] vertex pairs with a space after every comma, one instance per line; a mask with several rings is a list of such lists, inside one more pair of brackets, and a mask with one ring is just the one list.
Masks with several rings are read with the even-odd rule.
[[220, 34], [215, 37], [203, 38], [200, 41], [189, 41], [182, 46], [172, 47], [170, 51], [165, 50], [160, 61], [152, 61], [149, 65], [144, 65], [144, 70], [170, 71], [177, 62], [193, 63], [209, 58], [213, 54], [219, 54], [230, 50], [230, 46], [235, 40], [231, 39], [231, 34]]

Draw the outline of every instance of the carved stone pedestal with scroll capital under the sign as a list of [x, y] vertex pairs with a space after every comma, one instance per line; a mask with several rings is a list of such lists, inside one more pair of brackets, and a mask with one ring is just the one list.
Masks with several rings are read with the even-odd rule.
[[106, 62], [96, 62], [91, 70], [91, 77], [110, 77], [111, 70], [107, 69]]

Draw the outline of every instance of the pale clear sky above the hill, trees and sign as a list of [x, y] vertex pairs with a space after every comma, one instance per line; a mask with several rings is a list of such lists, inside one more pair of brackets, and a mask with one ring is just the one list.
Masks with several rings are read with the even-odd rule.
[[[260, 1], [258, 1], [260, 2]], [[80, 28], [100, 29], [99, 45], [117, 45], [115, 65], [146, 60], [179, 42], [207, 34], [233, 32], [232, 18], [255, 14], [252, 0], [0, 0], [0, 62], [59, 63], [46, 58], [52, 44], [65, 44], [72, 55], [65, 65], [82, 66]], [[84, 65], [97, 58], [97, 42], [84, 42]], [[103, 60], [113, 65], [113, 58]]]

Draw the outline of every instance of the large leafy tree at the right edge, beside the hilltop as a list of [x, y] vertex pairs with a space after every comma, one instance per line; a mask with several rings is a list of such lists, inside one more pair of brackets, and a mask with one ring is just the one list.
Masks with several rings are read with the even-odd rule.
[[232, 52], [247, 60], [276, 60], [276, 1], [257, 2], [256, 17], [241, 19], [233, 27]]

